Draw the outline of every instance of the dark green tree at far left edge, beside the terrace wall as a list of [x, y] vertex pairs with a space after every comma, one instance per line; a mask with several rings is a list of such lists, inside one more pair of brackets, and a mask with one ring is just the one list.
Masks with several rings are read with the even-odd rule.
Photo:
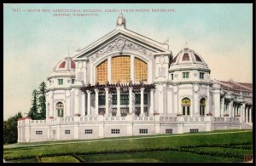
[[3, 144], [15, 143], [18, 140], [18, 119], [22, 118], [21, 112], [14, 117], [9, 117], [7, 121], [3, 121]]

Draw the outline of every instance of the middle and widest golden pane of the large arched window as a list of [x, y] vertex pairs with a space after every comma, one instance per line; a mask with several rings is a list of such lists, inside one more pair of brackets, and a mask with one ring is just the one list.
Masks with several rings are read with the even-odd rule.
[[112, 58], [112, 82], [129, 83], [131, 80], [131, 57], [127, 55]]

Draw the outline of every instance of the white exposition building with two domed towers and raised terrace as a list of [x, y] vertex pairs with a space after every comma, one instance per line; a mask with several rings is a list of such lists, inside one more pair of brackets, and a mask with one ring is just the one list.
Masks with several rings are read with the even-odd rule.
[[54, 67], [46, 119], [19, 119], [18, 142], [252, 129], [253, 84], [210, 72], [194, 50], [173, 57], [119, 14], [115, 30]]

